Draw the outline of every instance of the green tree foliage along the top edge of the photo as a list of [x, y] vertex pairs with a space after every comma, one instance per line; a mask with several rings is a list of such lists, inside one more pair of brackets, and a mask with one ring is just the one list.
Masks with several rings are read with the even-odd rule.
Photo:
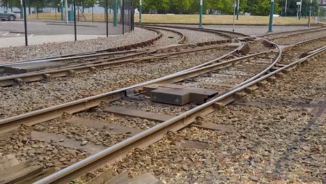
[[[60, 0], [25, 0], [28, 7], [56, 7]], [[114, 0], [75, 0], [77, 6], [83, 8], [94, 7], [98, 4], [105, 7], [108, 1], [109, 8], [114, 5]], [[198, 14], [200, 0], [143, 0], [143, 13], [175, 13], [175, 14]], [[233, 14], [234, 0], [203, 0], [203, 13], [218, 12], [221, 14]], [[236, 0], [238, 3], [238, 0]], [[274, 14], [284, 13], [285, 0], [275, 0]], [[288, 0], [287, 15], [295, 16], [297, 13], [297, 0]], [[68, 0], [71, 4], [72, 0]], [[283, 4], [282, 4], [283, 3]], [[20, 7], [20, 0], [0, 0], [0, 6], [13, 8]], [[121, 0], [118, 0], [121, 6]], [[134, 0], [135, 8], [139, 7], [139, 0]], [[313, 1], [313, 9], [318, 10], [318, 2]], [[270, 0], [240, 0], [240, 11], [251, 15], [269, 15]], [[309, 0], [302, 0], [302, 15], [309, 14]]]

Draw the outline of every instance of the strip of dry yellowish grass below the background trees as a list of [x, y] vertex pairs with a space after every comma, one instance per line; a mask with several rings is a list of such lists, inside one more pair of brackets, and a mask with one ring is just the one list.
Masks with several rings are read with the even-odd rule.
[[[120, 20], [118, 15], [118, 20]], [[61, 13], [38, 13], [29, 15], [29, 20], [60, 20]], [[79, 21], [95, 21], [104, 22], [104, 13], [79, 14]], [[109, 14], [109, 20], [113, 20], [113, 14]], [[134, 21], [139, 22], [139, 15], [134, 16]], [[268, 16], [244, 16], [240, 15], [239, 20], [235, 20], [235, 24], [268, 24]], [[165, 15], [165, 14], [143, 14], [144, 23], [170, 23], [170, 24], [198, 24], [199, 15]], [[296, 17], [274, 17], [274, 24], [307, 24], [308, 19], [302, 17], [297, 20]], [[203, 15], [203, 24], [233, 24], [233, 15]]]

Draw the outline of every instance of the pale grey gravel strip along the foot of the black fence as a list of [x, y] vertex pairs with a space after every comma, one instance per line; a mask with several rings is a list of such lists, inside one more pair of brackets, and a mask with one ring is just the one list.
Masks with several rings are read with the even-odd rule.
[[125, 33], [125, 35], [112, 36], [109, 38], [96, 38], [64, 43], [45, 43], [28, 47], [0, 48], [0, 63], [39, 59], [50, 56], [63, 56], [67, 54], [78, 54], [99, 49], [120, 47], [150, 40], [151, 38], [155, 38], [155, 36], [156, 33], [154, 31], [135, 27], [134, 31], [131, 33]]

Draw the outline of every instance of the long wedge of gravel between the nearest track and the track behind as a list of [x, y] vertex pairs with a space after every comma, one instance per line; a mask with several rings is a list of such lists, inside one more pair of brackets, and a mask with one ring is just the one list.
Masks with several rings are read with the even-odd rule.
[[109, 70], [88, 72], [75, 77], [59, 77], [49, 83], [33, 82], [22, 87], [0, 88], [0, 100], [3, 102], [0, 105], [0, 118], [146, 82], [211, 61], [228, 52], [215, 49], [200, 55], [187, 54], [168, 60], [154, 60], [151, 63], [114, 66]]

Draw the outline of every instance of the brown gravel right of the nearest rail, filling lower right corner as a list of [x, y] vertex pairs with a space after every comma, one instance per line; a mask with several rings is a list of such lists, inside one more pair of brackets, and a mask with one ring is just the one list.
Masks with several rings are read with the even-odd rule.
[[109, 169], [149, 171], [166, 183], [325, 183], [325, 56], [242, 100], [254, 105], [203, 117], [231, 132], [185, 128]]

